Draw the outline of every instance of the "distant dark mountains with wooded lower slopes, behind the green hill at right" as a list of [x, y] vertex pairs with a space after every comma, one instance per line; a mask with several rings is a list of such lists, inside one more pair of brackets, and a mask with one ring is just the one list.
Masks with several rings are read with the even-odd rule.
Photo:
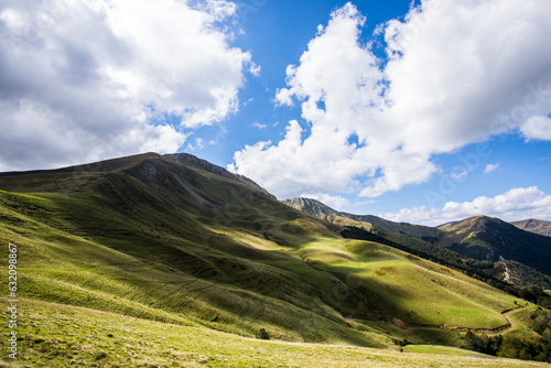
[[[454, 267], [467, 264], [486, 268], [494, 275], [501, 273], [507, 278], [499, 261], [516, 261], [510, 266], [516, 270], [516, 278], [510, 281], [518, 286], [526, 286], [534, 280], [544, 288], [551, 285], [551, 238], [523, 231], [497, 218], [475, 216], [439, 227], [426, 227], [393, 223], [371, 215], [337, 212], [311, 198], [294, 198], [283, 203], [337, 225], [364, 228], [407, 246], [409, 251], [421, 251]], [[489, 270], [491, 268], [503, 271]]]

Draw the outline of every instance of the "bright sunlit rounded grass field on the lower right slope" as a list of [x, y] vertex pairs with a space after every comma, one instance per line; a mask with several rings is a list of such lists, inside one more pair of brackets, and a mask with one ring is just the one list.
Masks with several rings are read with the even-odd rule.
[[316, 242], [300, 253], [314, 267], [331, 264], [343, 278], [354, 279], [377, 295], [383, 310], [410, 323], [493, 328], [507, 322], [500, 312], [515, 305], [512, 296], [485, 283], [379, 243]]

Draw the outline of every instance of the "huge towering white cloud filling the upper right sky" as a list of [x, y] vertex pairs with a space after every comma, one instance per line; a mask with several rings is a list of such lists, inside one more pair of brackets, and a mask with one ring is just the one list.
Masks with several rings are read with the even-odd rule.
[[233, 169], [280, 197], [354, 192], [376, 197], [425, 182], [431, 158], [520, 129], [548, 139], [551, 2], [425, 0], [378, 28], [388, 63], [361, 43], [366, 19], [334, 11], [277, 105], [300, 106], [279, 142], [235, 153]]

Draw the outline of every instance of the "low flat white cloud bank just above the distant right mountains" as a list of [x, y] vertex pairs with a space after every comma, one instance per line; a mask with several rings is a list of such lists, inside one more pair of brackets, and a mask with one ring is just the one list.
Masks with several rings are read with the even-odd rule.
[[379, 214], [392, 221], [436, 226], [471, 216], [486, 215], [511, 221], [526, 218], [551, 219], [551, 195], [537, 186], [514, 188], [495, 197], [479, 196], [472, 202], [449, 202], [442, 208], [424, 206]]

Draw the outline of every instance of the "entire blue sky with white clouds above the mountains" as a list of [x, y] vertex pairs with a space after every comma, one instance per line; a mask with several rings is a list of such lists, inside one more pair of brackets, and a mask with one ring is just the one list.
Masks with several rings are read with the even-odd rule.
[[551, 220], [549, 0], [3, 0], [0, 171], [187, 152], [279, 199]]

